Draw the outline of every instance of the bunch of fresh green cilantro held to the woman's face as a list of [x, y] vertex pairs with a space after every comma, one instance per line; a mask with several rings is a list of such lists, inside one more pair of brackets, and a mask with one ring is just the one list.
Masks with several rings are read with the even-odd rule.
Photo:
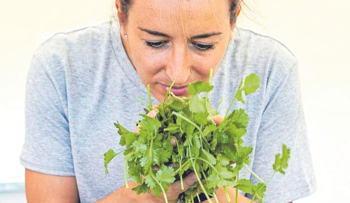
[[[138, 98], [148, 107], [145, 109], [146, 114], [140, 114], [143, 119], [137, 122], [140, 125], [139, 133], [126, 130], [118, 121], [114, 123], [121, 136], [120, 145], [126, 147], [125, 150], [121, 151], [124, 152], [125, 156], [126, 188], [128, 188], [128, 168], [128, 175], [139, 184], [132, 190], [141, 194], [147, 193], [151, 189], [155, 196], [160, 196], [163, 193], [167, 203], [168, 186], [180, 179], [183, 189], [183, 177], [194, 171], [198, 182], [180, 194], [180, 202], [194, 202], [195, 197], [197, 197], [197, 201], [201, 201], [198, 193], [204, 193], [210, 203], [212, 203], [210, 197], [214, 197], [215, 201], [218, 202], [215, 194], [218, 187], [224, 188], [229, 202], [231, 200], [228, 187], [236, 188], [236, 203], [238, 189], [252, 194], [251, 202], [254, 200], [262, 202], [266, 183], [247, 167], [249, 154], [253, 148], [242, 146], [242, 137], [246, 133], [249, 121], [248, 115], [244, 109], [235, 109], [229, 114], [235, 99], [245, 103], [242, 96], [243, 91], [247, 96], [259, 88], [260, 78], [257, 74], [251, 73], [240, 81], [238, 90], [219, 125], [216, 125], [210, 117], [210, 115], [218, 114], [222, 103], [221, 99], [216, 110], [209, 102], [208, 95], [213, 89], [211, 78], [212, 69], [208, 83], [189, 84], [187, 89], [191, 95], [189, 98], [174, 95], [170, 91], [174, 85], [173, 82], [168, 88], [163, 102], [158, 105], [155, 119], [146, 116], [149, 111], [153, 110], [148, 85], [149, 104]], [[201, 92], [206, 92], [206, 96], [201, 97]], [[168, 102], [166, 102], [167, 99]], [[175, 147], [170, 139], [176, 141]], [[119, 153], [109, 149], [104, 154], [106, 174], [108, 174], [108, 163]], [[288, 167], [289, 154], [289, 149], [283, 144], [282, 154], [276, 154], [272, 167], [275, 173], [285, 174], [284, 170]], [[173, 163], [174, 166], [169, 166], [169, 163]], [[159, 169], [154, 170], [152, 168], [154, 165], [158, 166]], [[239, 179], [239, 171], [242, 168], [246, 168], [257, 177], [260, 183], [254, 185], [250, 180]]]

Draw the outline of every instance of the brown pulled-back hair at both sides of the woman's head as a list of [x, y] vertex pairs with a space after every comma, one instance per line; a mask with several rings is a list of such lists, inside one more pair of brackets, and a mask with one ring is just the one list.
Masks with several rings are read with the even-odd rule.
[[[243, 0], [228, 0], [230, 1], [230, 24], [231, 26], [236, 23], [237, 16], [237, 8], [240, 7]], [[128, 10], [131, 7], [132, 0], [120, 0], [121, 2], [121, 11], [123, 14], [118, 14], [119, 20], [123, 23], [127, 21], [128, 18]]]

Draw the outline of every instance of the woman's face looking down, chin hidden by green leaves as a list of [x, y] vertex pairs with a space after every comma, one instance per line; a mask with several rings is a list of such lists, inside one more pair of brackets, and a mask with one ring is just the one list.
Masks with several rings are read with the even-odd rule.
[[188, 97], [182, 87], [208, 81], [210, 68], [216, 72], [232, 39], [229, 2], [133, 0], [121, 36], [130, 61], [158, 101], [173, 80], [172, 91]]

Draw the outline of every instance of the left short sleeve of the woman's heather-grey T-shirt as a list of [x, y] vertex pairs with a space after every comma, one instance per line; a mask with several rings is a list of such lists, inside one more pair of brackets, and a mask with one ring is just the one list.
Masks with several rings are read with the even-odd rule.
[[34, 55], [28, 70], [20, 162], [36, 172], [74, 176], [64, 74], [43, 61]]

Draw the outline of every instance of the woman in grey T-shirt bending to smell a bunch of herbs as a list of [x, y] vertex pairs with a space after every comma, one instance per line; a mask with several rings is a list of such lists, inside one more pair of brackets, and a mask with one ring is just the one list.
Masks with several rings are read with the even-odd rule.
[[[129, 130], [147, 99], [161, 102], [165, 89], [188, 96], [186, 85], [208, 80], [210, 101], [220, 114], [228, 108], [240, 79], [251, 72], [260, 88], [246, 99], [250, 116], [244, 145], [254, 148], [250, 167], [271, 176], [282, 143], [291, 148], [285, 176], [269, 182], [265, 202], [292, 202], [315, 191], [301, 103], [297, 59], [273, 38], [237, 28], [239, 0], [116, 0], [118, 21], [56, 34], [34, 53], [26, 89], [26, 140], [20, 161], [26, 168], [28, 202], [162, 202], [151, 193], [124, 187], [123, 156], [104, 175], [103, 154], [121, 150], [113, 122]], [[219, 122], [219, 121], [218, 121]], [[242, 170], [240, 178], [257, 183]], [[195, 182], [184, 179], [185, 189]], [[176, 202], [175, 182], [167, 193]], [[231, 199], [235, 198], [230, 189]], [[217, 191], [220, 202], [226, 198]], [[250, 202], [239, 193], [239, 202]]]

